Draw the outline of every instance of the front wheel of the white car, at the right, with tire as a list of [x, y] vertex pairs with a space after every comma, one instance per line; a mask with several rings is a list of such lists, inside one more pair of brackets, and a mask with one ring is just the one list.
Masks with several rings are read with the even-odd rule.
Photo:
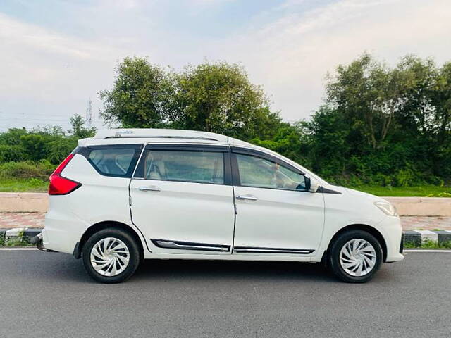
[[369, 232], [350, 230], [335, 239], [328, 253], [328, 268], [343, 282], [371, 280], [383, 261], [381, 244]]

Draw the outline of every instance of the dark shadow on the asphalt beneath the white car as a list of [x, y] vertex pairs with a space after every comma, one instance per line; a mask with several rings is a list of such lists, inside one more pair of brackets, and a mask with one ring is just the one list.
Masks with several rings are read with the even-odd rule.
[[[47, 281], [95, 283], [83, 268], [81, 260], [63, 253], [35, 252], [34, 262], [23, 263], [21, 270], [9, 270], [8, 274], [32, 277]], [[45, 268], [42, 268], [45, 266]], [[25, 271], [24, 271], [25, 270]], [[383, 267], [375, 280], [393, 280], [395, 272]], [[24, 273], [25, 272], [25, 273]], [[266, 261], [202, 261], [149, 259], [140, 264], [128, 282], [161, 282], [171, 280], [215, 282], [240, 280], [249, 282], [311, 282], [340, 283], [321, 263], [266, 262]]]

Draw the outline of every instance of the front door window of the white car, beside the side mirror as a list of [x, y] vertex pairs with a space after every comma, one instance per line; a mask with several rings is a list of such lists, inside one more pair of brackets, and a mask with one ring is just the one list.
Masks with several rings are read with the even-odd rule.
[[305, 177], [283, 165], [258, 156], [236, 154], [240, 184], [285, 190], [305, 190]]

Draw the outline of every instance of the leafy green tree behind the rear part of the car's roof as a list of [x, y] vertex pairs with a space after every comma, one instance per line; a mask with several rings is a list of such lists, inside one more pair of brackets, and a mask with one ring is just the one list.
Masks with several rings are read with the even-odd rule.
[[173, 115], [173, 75], [145, 58], [125, 58], [116, 68], [113, 89], [99, 92], [101, 117], [123, 127], [164, 127]]

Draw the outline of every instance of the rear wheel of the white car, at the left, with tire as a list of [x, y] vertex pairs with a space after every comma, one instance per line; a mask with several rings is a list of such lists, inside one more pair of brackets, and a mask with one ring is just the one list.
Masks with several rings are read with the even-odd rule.
[[107, 228], [93, 234], [82, 249], [82, 261], [96, 282], [120, 283], [130, 278], [140, 265], [140, 249], [130, 234]]

